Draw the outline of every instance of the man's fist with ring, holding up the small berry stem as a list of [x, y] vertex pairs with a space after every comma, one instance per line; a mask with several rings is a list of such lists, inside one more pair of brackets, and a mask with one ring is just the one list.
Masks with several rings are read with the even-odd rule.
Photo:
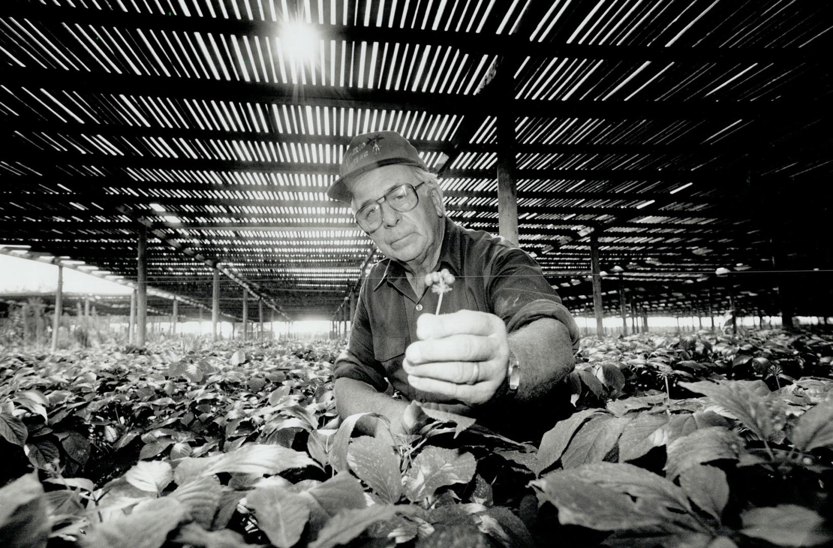
[[506, 325], [495, 314], [422, 314], [416, 336], [420, 340], [408, 346], [402, 362], [416, 390], [481, 405], [506, 378]]

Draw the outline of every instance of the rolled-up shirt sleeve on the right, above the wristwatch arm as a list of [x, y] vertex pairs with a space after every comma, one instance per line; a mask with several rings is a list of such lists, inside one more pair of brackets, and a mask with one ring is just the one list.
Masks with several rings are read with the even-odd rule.
[[486, 269], [486, 298], [494, 314], [511, 333], [536, 319], [557, 319], [567, 328], [573, 350], [578, 350], [578, 325], [561, 297], [544, 278], [541, 266], [517, 248], [499, 248]]

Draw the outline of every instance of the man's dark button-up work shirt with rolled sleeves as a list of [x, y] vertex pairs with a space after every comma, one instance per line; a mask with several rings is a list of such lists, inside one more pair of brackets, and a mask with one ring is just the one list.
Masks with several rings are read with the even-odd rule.
[[[536, 319], [557, 319], [566, 325], [573, 350], [578, 349], [576, 321], [535, 260], [505, 239], [464, 229], [451, 219], [445, 222], [437, 270], [448, 269], [455, 282], [442, 297], [441, 314], [489, 312], [503, 319], [509, 333]], [[418, 340], [416, 319], [436, 312], [437, 299], [431, 290], [417, 299], [396, 260], [375, 264], [362, 284], [350, 342], [336, 360], [335, 378], [361, 380], [380, 392], [390, 383], [408, 400], [443, 401], [412, 388], [402, 369], [405, 349]]]

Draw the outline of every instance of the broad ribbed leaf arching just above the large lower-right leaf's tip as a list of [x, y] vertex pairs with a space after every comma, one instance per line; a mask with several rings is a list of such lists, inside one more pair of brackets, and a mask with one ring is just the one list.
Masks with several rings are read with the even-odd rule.
[[676, 478], [683, 470], [712, 460], [737, 460], [743, 448], [741, 437], [721, 426], [696, 430], [668, 445], [666, 476]]

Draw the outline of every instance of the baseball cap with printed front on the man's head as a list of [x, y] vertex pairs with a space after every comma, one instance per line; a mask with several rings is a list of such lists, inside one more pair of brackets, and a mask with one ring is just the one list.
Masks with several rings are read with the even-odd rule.
[[352, 198], [347, 184], [359, 175], [382, 166], [400, 163], [425, 169], [425, 162], [416, 153], [416, 148], [396, 131], [373, 131], [352, 138], [336, 182], [327, 189], [327, 196], [350, 204]]

